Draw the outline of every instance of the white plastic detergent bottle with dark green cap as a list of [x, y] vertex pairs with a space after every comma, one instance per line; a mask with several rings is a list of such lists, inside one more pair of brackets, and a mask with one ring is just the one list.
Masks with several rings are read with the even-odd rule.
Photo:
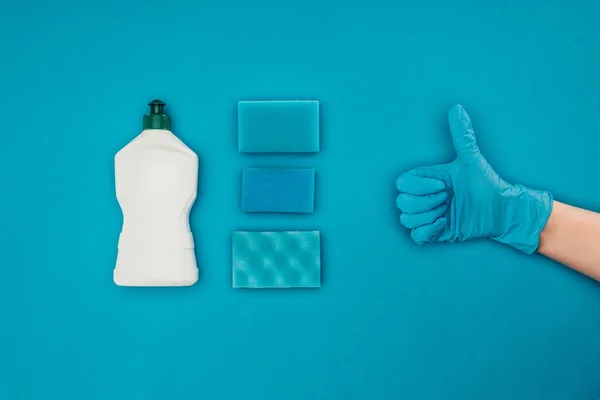
[[123, 211], [114, 281], [119, 286], [189, 286], [198, 280], [189, 213], [198, 188], [198, 156], [171, 132], [154, 100], [142, 133], [115, 156]]

